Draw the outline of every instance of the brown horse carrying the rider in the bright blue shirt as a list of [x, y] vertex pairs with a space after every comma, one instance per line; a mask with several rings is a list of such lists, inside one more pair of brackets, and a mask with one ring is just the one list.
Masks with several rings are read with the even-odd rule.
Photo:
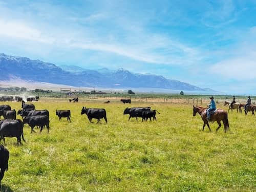
[[[206, 111], [207, 111], [207, 108], [203, 108], [202, 106], [194, 106], [193, 105], [193, 116], [196, 116], [196, 114], [199, 113], [201, 115], [202, 120], [204, 121], [203, 131], [204, 131], [205, 124], [208, 126], [208, 128], [210, 130], [208, 120], [206, 119], [206, 117], [207, 117]], [[229, 130], [229, 123], [228, 123], [226, 111], [224, 111], [222, 109], [218, 109], [215, 114], [211, 115], [211, 121], [213, 121], [213, 122], [217, 121], [217, 123], [219, 124], [216, 132], [221, 127], [221, 121], [223, 121], [225, 133]], [[211, 132], [211, 130], [210, 130], [210, 132]]]

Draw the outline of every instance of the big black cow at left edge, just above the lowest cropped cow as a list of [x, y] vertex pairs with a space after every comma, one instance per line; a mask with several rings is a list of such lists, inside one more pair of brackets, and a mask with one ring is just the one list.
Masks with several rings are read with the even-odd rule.
[[22, 139], [26, 143], [23, 136], [23, 126], [24, 124], [20, 119], [0, 121], [0, 140], [3, 139], [5, 143], [5, 137], [16, 137], [17, 144], [22, 144]]

